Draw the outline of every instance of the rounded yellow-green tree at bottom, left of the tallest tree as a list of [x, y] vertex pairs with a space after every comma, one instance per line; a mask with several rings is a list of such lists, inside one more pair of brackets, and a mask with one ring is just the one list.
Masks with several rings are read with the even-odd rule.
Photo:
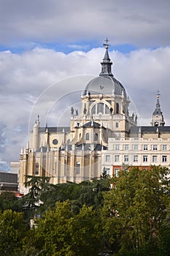
[[[58, 202], [54, 211], [50, 209], [36, 220], [31, 230], [34, 233], [32, 251], [42, 256], [98, 255], [99, 233], [96, 222], [92, 208], [83, 206], [80, 214], [73, 214], [68, 200]], [[26, 251], [28, 246], [25, 247]]]

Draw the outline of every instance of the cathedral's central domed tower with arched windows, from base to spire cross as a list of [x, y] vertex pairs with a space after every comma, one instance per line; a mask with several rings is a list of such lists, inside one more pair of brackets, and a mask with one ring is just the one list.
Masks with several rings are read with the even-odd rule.
[[128, 113], [128, 95], [123, 85], [112, 74], [108, 41], [106, 39], [104, 44], [106, 51], [101, 61], [101, 73], [85, 86], [81, 95], [82, 109], [78, 115], [71, 116], [70, 138], [74, 143], [88, 143], [93, 140], [93, 135], [92, 140], [85, 140], [86, 132], [90, 135], [86, 124], [90, 124], [91, 120], [98, 125], [92, 133], [98, 134], [98, 143], [103, 146], [107, 146], [109, 137], [125, 138], [130, 127], [136, 125], [136, 121]]

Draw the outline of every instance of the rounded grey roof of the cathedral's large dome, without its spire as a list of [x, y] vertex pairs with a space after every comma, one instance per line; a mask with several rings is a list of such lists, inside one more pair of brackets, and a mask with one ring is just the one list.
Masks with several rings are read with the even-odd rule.
[[124, 95], [126, 98], [126, 92], [123, 85], [116, 80], [113, 75], [100, 75], [98, 78], [91, 80], [85, 87], [85, 94], [115, 94]]

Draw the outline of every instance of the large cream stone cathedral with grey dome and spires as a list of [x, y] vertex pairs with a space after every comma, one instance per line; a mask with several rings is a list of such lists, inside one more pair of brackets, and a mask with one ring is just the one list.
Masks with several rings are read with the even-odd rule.
[[108, 40], [104, 46], [101, 72], [85, 85], [80, 113], [71, 108], [70, 127], [41, 127], [36, 119], [20, 152], [20, 192], [28, 175], [48, 176], [52, 184], [80, 183], [104, 170], [115, 175], [123, 164], [169, 166], [170, 127], [164, 126], [159, 94], [150, 126], [137, 126], [125, 88], [112, 74]]

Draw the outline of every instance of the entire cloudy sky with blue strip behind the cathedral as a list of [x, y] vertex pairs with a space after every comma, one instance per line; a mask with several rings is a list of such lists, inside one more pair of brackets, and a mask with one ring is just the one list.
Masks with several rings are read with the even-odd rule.
[[169, 10], [169, 0], [0, 0], [0, 170], [19, 160], [38, 114], [42, 126], [69, 126], [106, 37], [139, 124], [150, 125], [159, 90], [170, 125]]

